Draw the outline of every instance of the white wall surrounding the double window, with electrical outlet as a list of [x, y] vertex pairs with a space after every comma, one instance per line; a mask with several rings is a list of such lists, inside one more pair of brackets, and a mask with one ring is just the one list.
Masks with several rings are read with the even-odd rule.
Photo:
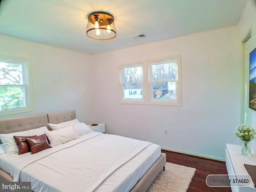
[[[240, 123], [237, 26], [182, 36], [93, 56], [97, 77], [95, 122], [106, 132], [162, 148], [224, 160]], [[182, 106], [118, 104], [119, 68], [161, 56], [181, 55]], [[168, 135], [164, 134], [168, 129]]]

